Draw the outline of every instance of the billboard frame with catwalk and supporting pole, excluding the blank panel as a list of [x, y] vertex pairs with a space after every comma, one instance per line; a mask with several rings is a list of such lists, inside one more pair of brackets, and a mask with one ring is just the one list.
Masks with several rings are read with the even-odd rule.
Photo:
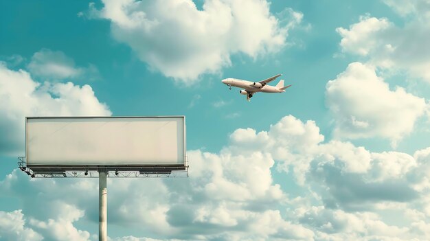
[[[183, 118], [183, 163], [177, 165], [30, 165], [26, 157], [18, 157], [18, 166], [32, 178], [34, 177], [97, 177], [99, 179], [99, 240], [107, 240], [107, 183], [111, 177], [188, 177], [188, 158], [186, 155], [185, 115], [177, 116], [136, 116], [136, 117], [25, 117], [25, 154], [27, 155], [27, 119], [84, 119], [84, 118]], [[177, 129], [178, 130], [178, 129]], [[177, 141], [178, 143], [179, 141]], [[178, 156], [177, 156], [178, 157]]]

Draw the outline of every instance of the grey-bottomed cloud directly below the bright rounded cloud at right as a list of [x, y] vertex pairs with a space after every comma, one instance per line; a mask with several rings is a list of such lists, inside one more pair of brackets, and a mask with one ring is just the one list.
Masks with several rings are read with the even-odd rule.
[[[351, 144], [339, 146], [338, 141], [319, 148], [306, 181], [326, 207], [361, 211], [418, 200], [419, 192], [407, 179], [415, 161], [407, 154], [372, 153]], [[389, 165], [382, 166], [387, 159]], [[387, 174], [389, 170], [396, 170], [397, 175]]]

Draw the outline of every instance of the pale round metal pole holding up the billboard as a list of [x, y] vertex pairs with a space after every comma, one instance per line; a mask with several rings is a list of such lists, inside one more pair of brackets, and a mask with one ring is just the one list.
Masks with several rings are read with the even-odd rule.
[[107, 241], [107, 187], [106, 172], [98, 173], [98, 240]]

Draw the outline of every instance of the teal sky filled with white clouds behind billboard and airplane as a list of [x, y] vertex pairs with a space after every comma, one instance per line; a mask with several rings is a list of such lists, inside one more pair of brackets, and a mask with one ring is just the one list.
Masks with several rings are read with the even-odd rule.
[[[430, 3], [3, 1], [0, 240], [97, 240], [98, 183], [30, 179], [25, 116], [185, 115], [188, 179], [109, 179], [111, 240], [423, 240]], [[247, 102], [224, 78], [282, 73]]]

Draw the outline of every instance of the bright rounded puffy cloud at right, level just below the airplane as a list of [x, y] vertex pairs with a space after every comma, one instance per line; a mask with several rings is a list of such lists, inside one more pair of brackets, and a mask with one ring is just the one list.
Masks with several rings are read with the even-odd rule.
[[424, 99], [401, 87], [390, 90], [372, 66], [360, 62], [327, 83], [326, 105], [335, 117], [336, 137], [383, 137], [393, 146], [411, 133], [428, 108]]

